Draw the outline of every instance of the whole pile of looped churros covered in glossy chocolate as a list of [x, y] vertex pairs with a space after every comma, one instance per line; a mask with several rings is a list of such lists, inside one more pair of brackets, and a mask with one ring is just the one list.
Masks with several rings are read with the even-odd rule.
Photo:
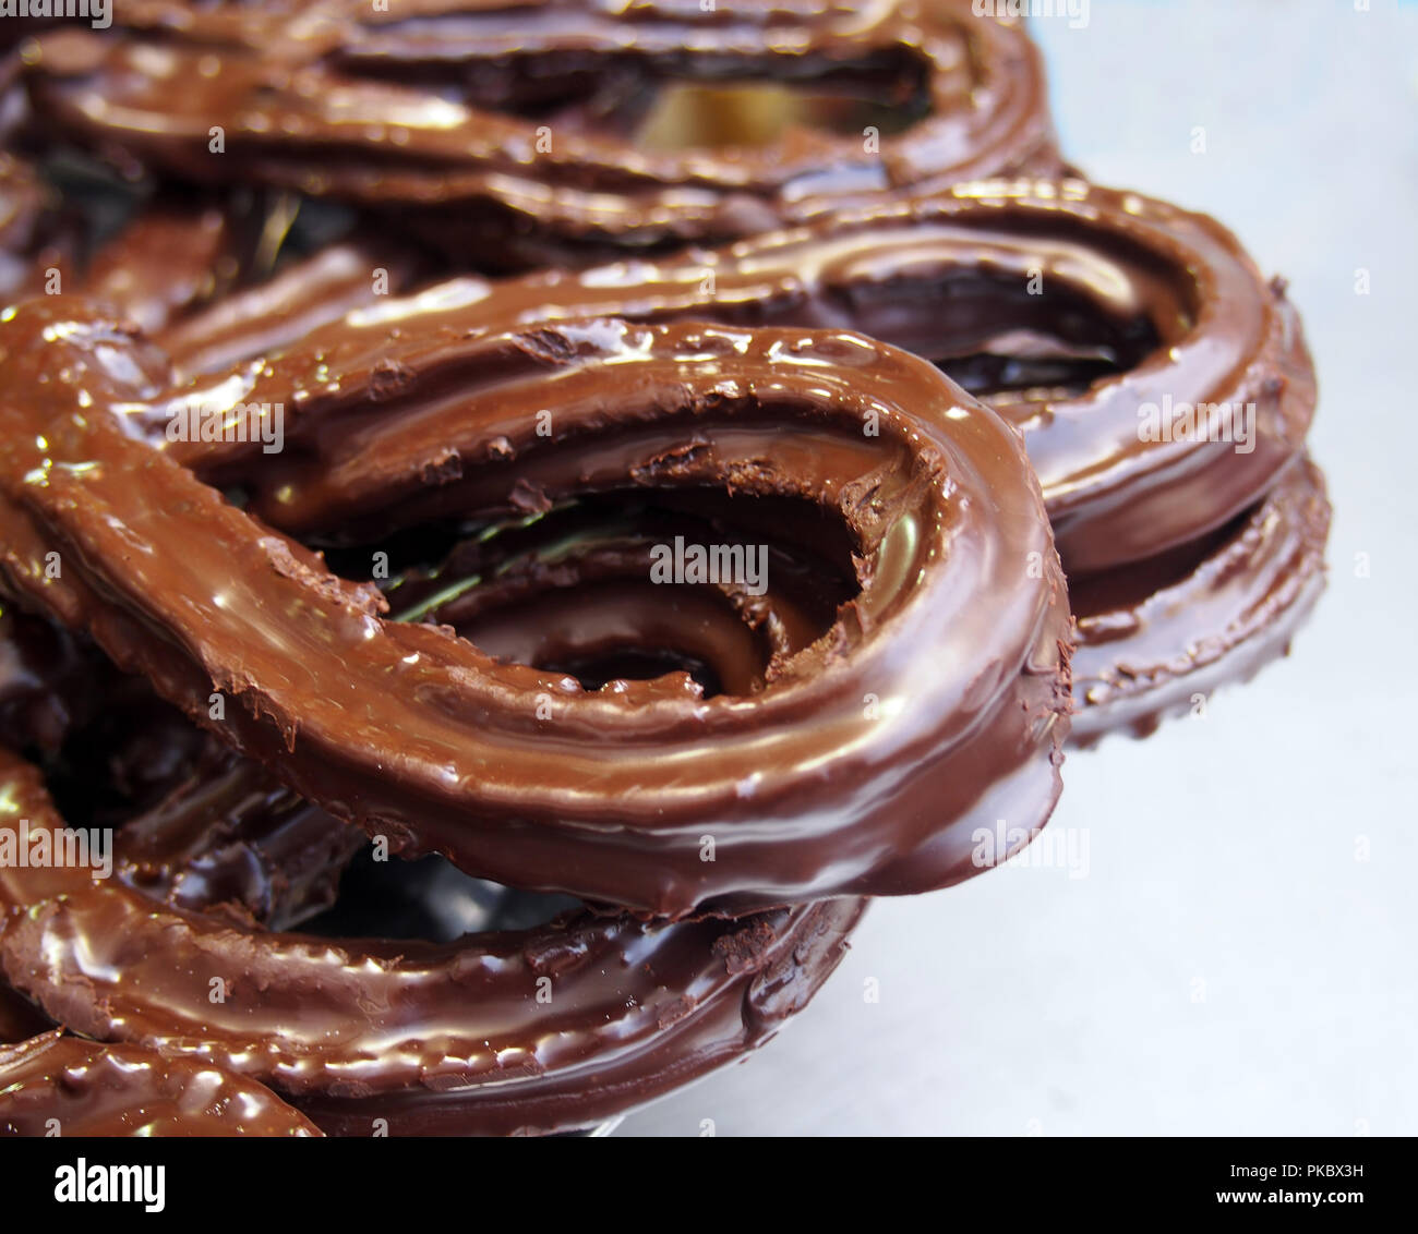
[[601, 1123], [1323, 584], [1283, 286], [1017, 24], [389, 9], [14, 52], [0, 1128]]

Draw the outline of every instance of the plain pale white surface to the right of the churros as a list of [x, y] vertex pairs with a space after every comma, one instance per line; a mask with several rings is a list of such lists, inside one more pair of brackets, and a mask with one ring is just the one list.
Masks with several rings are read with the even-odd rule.
[[1051, 829], [1086, 829], [1088, 877], [878, 901], [777, 1041], [620, 1135], [1418, 1133], [1418, 7], [1089, 17], [1034, 23], [1065, 153], [1215, 214], [1290, 279], [1329, 594], [1205, 718], [1069, 758]]

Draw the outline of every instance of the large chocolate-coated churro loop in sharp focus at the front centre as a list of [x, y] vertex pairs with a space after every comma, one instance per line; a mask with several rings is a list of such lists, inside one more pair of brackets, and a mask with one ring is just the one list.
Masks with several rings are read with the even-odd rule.
[[397, 528], [625, 487], [835, 511], [861, 595], [760, 693], [703, 698], [685, 674], [588, 693], [381, 621], [372, 588], [132, 435], [156, 419], [159, 353], [61, 299], [3, 329], [24, 391], [0, 409], [11, 585], [396, 850], [683, 915], [947, 885], [977, 873], [981, 817], [1028, 830], [1052, 809], [1069, 635], [1038, 487], [1017, 435], [920, 360], [845, 333], [468, 337], [404, 317], [224, 387], [292, 409], [271, 456], [292, 523]]

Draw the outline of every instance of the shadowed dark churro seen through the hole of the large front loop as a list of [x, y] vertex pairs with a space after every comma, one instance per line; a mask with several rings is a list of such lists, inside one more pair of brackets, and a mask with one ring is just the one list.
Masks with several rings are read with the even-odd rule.
[[[390, 601], [423, 606], [431, 599], [428, 621], [454, 628], [489, 655], [583, 683], [683, 667], [708, 683], [709, 694], [752, 696], [821, 638], [838, 606], [856, 594], [849, 548], [832, 543], [830, 527], [810, 524], [801, 507], [692, 496], [689, 510], [666, 510], [664, 499], [635, 509], [632, 494], [615, 494], [600, 510], [576, 503], [458, 545], [437, 570], [397, 579]], [[793, 513], [798, 534], [788, 537], [783, 523]], [[735, 581], [669, 592], [651, 582], [657, 544], [675, 537], [744, 544], [756, 527], [773, 523], [778, 534], [761, 595]], [[476, 585], [448, 588], [450, 579], [468, 578]], [[637, 653], [649, 663], [628, 672]]]

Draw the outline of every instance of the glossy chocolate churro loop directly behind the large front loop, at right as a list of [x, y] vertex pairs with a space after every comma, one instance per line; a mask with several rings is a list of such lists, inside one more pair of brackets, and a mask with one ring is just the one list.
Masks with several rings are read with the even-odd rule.
[[[1034, 272], [1041, 295], [1029, 290]], [[1071, 575], [1147, 560], [1255, 506], [1303, 449], [1314, 412], [1299, 319], [1229, 232], [1079, 180], [959, 186], [712, 252], [461, 279], [309, 337], [268, 326], [264, 341], [298, 341], [298, 354], [343, 373], [372, 363], [404, 319], [425, 332], [496, 332], [597, 316], [858, 330], [946, 367], [981, 353], [1109, 357], [1117, 371], [1076, 392], [981, 383], [1024, 431]], [[1139, 407], [1164, 397], [1254, 402], [1255, 448], [1143, 441]], [[213, 453], [200, 453], [211, 466]], [[269, 469], [262, 483], [285, 475]], [[285, 521], [289, 503], [259, 509], [303, 527]]]

